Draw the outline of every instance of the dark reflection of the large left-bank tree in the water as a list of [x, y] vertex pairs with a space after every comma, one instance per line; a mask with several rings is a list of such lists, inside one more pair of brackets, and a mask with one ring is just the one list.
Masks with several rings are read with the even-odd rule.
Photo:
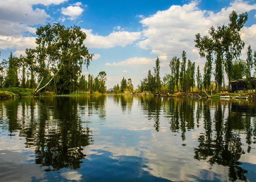
[[26, 99], [12, 104], [14, 110], [6, 104], [10, 111], [7, 113], [9, 130], [11, 133], [20, 130], [20, 137], [26, 138], [26, 147], [35, 149], [35, 163], [48, 167], [45, 171], [78, 169], [86, 156], [83, 148], [93, 143], [90, 128], [82, 127], [78, 113], [79, 106], [87, 102], [90, 98]]

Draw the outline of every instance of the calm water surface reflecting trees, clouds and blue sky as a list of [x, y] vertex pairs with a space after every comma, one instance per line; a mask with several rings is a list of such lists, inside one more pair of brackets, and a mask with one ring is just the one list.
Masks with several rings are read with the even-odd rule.
[[256, 102], [0, 100], [0, 181], [256, 181]]

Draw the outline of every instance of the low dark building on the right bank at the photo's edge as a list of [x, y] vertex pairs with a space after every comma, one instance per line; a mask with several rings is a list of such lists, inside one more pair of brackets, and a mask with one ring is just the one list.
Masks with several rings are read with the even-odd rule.
[[255, 90], [256, 78], [252, 77], [248, 79], [239, 79], [230, 82], [231, 92], [234, 93], [248, 93], [248, 85], [251, 83], [249, 90]]

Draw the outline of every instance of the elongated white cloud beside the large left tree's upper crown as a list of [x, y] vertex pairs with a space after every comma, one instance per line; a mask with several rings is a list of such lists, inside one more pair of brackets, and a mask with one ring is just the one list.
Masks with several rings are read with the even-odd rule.
[[133, 41], [140, 39], [140, 32], [119, 31], [112, 32], [108, 36], [94, 35], [92, 30], [82, 29], [87, 35], [84, 44], [89, 48], [111, 48], [115, 46], [125, 47]]

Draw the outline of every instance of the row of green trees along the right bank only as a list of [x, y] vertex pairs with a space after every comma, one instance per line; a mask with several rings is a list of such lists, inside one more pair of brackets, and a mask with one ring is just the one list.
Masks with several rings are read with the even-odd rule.
[[[201, 37], [200, 33], [195, 36], [195, 47], [199, 48], [201, 58], [206, 58], [203, 75], [199, 66], [195, 68], [195, 62], [187, 60], [186, 52], [182, 51], [181, 60], [174, 56], [169, 63], [170, 74], [165, 74], [162, 80], [159, 77], [159, 63], [157, 58], [154, 71], [148, 71], [148, 75], [138, 85], [139, 92], [148, 91], [153, 94], [163, 91], [170, 93], [178, 91], [209, 90], [215, 91], [230, 89], [231, 80], [242, 78], [251, 79], [253, 67], [256, 69], [256, 51], [248, 46], [246, 60], [240, 59], [244, 41], [241, 40], [240, 31], [248, 20], [248, 14], [237, 15], [235, 11], [229, 15], [229, 24], [212, 26], [209, 34]], [[211, 80], [212, 74], [214, 81]], [[228, 83], [225, 83], [227, 75]], [[249, 82], [248, 82], [249, 83]], [[228, 87], [228, 88], [227, 88]]]

